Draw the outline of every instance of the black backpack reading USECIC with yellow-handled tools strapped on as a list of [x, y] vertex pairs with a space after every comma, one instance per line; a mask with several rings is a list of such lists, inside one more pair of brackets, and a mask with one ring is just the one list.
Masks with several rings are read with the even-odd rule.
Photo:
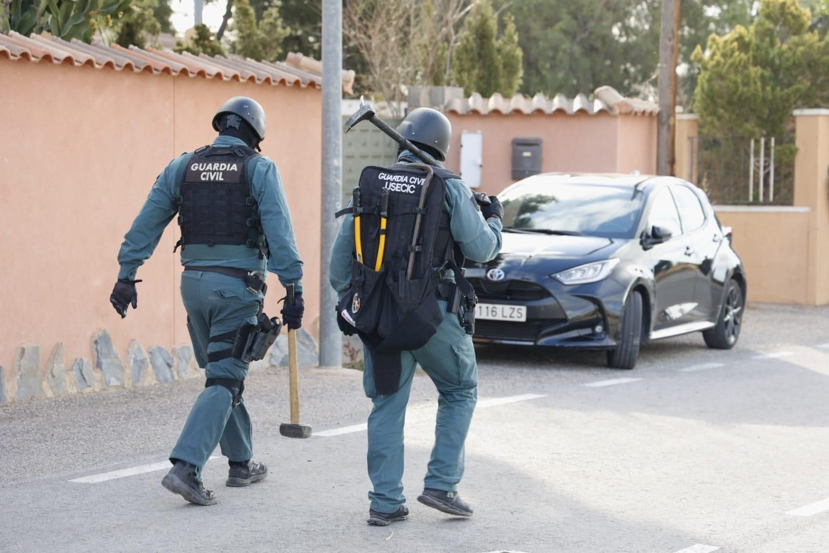
[[397, 390], [400, 352], [423, 347], [443, 321], [437, 288], [447, 262], [463, 279], [444, 211], [445, 179], [458, 177], [429, 167], [429, 181], [427, 167], [366, 167], [351, 207], [337, 212], [351, 213], [355, 227], [351, 287], [337, 312], [371, 354], [380, 394]]

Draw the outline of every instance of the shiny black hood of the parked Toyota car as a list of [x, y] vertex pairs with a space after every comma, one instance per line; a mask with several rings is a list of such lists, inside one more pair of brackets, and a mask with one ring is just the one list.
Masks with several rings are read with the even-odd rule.
[[616, 255], [629, 240], [504, 232], [501, 253], [479, 266], [552, 274]]

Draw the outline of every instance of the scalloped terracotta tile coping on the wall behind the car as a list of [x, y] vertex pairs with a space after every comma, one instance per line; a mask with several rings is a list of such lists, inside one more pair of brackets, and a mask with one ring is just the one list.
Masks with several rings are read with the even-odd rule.
[[511, 98], [504, 98], [497, 92], [489, 98], [482, 98], [477, 92], [467, 99], [453, 98], [443, 106], [444, 111], [456, 114], [555, 114], [564, 112], [568, 115], [584, 113], [589, 115], [606, 112], [612, 115], [635, 114], [654, 115], [659, 111], [657, 104], [644, 99], [626, 98], [620, 95], [610, 86], [602, 86], [594, 92], [594, 98], [589, 99], [587, 95], [579, 94], [575, 98], [567, 98], [563, 94], [557, 94], [553, 98], [547, 98], [541, 93], [532, 98], [524, 95], [515, 95]]

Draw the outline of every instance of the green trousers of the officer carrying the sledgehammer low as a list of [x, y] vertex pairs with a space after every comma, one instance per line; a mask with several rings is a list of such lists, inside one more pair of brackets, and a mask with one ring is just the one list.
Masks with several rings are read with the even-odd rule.
[[[182, 273], [182, 301], [187, 310], [187, 330], [199, 366], [207, 378], [244, 381], [248, 364], [228, 357], [207, 362], [207, 354], [230, 347], [230, 342], [208, 342], [211, 336], [229, 332], [245, 323], [256, 323], [264, 296], [251, 293], [240, 279], [225, 274], [187, 270]], [[234, 394], [239, 390], [234, 389]], [[201, 468], [216, 445], [231, 461], [253, 456], [250, 415], [245, 400], [233, 407], [233, 395], [224, 386], [205, 388], [196, 399], [170, 458]]]

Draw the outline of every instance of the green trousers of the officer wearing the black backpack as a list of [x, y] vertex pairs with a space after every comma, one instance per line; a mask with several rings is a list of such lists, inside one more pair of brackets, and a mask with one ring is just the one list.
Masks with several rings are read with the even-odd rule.
[[[445, 311], [446, 303], [439, 302]], [[419, 363], [439, 393], [434, 448], [424, 479], [424, 488], [453, 492], [463, 477], [463, 443], [478, 402], [478, 364], [472, 337], [464, 332], [458, 317], [448, 313], [438, 332], [418, 350], [402, 352], [400, 389], [377, 395], [371, 358], [364, 355], [363, 388], [374, 404], [368, 417], [368, 474], [374, 489], [371, 508], [395, 512], [405, 503], [403, 495], [403, 426], [406, 404]]]

